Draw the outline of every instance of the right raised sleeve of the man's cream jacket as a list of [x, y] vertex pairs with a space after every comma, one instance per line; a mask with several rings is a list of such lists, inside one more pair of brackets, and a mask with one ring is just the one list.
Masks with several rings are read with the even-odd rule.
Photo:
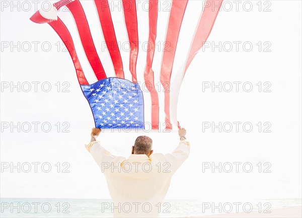
[[161, 162], [161, 166], [172, 174], [182, 165], [182, 163], [189, 157], [190, 154], [190, 142], [182, 140], [179, 142], [178, 147], [171, 154], [153, 154], [150, 158], [156, 157]]

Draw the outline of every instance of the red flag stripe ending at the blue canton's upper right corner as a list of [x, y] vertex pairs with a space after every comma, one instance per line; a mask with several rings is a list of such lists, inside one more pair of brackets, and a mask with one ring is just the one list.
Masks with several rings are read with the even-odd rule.
[[129, 69], [132, 75], [133, 83], [137, 83], [136, 79], [136, 62], [138, 55], [138, 31], [137, 31], [137, 15], [135, 0], [122, 0], [125, 23], [130, 43], [130, 63]]

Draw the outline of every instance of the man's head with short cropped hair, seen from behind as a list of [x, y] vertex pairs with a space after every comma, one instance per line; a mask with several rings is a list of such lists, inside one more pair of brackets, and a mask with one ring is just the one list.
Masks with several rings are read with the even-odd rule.
[[152, 139], [145, 135], [138, 136], [132, 146], [132, 154], [149, 157], [152, 153]]

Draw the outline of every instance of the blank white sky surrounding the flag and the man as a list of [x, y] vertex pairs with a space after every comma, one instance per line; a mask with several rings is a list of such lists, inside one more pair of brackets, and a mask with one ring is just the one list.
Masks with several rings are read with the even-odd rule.
[[[3, 3], [6, 1], [1, 1]], [[22, 1], [21, 1], [22, 2]], [[26, 1], [23, 1], [26, 2]], [[180, 92], [178, 120], [187, 128], [191, 154], [173, 176], [167, 198], [198, 199], [263, 199], [300, 198], [301, 195], [301, 2], [270, 1], [270, 6], [252, 1], [250, 12], [222, 10], [217, 17], [208, 42], [251, 42], [251, 52], [242, 46], [236, 52], [214, 52], [210, 48], [196, 55], [189, 67]], [[257, 1], [258, 2], [258, 1]], [[10, 1], [8, 2], [10, 4]], [[233, 7], [235, 3], [231, 2]], [[271, 12], [264, 12], [268, 7]], [[225, 6], [226, 7], [226, 6]], [[67, 52], [57, 52], [59, 41], [48, 25], [32, 23], [34, 13], [18, 9], [1, 9], [1, 82], [49, 82], [50, 92], [1, 91], [1, 122], [49, 122], [50, 132], [1, 131], [1, 162], [49, 162], [50, 173], [1, 174], [1, 197], [110, 198], [104, 175], [85, 150], [94, 125], [91, 110], [82, 94], [74, 67]], [[118, 33], [117, 33], [118, 35]], [[6, 48], [5, 42], [22, 44], [49, 41], [49, 52], [38, 47], [29, 52]], [[259, 52], [271, 44], [271, 52]], [[33, 44], [32, 44], [33, 46]], [[235, 44], [233, 43], [233, 46]], [[156, 60], [155, 60], [156, 61]], [[126, 67], [125, 67], [126, 68]], [[57, 92], [57, 82], [69, 82], [70, 92]], [[250, 82], [251, 92], [202, 91], [204, 82]], [[269, 82], [271, 92], [259, 92], [258, 84]], [[26, 84], [24, 84], [26, 85]], [[233, 84], [234, 85], [234, 84]], [[33, 86], [33, 85], [32, 85]], [[235, 85], [234, 85], [235, 86]], [[57, 132], [55, 124], [68, 122], [70, 132]], [[202, 131], [202, 122], [251, 122], [253, 130], [245, 132]], [[262, 132], [257, 123], [262, 122]], [[270, 122], [271, 132], [263, 132]], [[34, 125], [32, 124], [32, 128]], [[235, 124], [233, 124], [235, 128]], [[99, 140], [113, 154], [128, 157], [130, 148], [141, 133], [110, 133]], [[172, 152], [178, 143], [177, 133], [144, 133], [153, 138], [154, 150]], [[70, 173], [57, 173], [55, 164], [68, 162]], [[250, 162], [251, 173], [202, 173], [202, 162]], [[271, 173], [258, 173], [256, 164], [269, 162]]]

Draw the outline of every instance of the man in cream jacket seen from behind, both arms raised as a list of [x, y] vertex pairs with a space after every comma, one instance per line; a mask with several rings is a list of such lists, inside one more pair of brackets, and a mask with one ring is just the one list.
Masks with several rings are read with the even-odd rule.
[[100, 132], [92, 129], [86, 149], [104, 172], [113, 200], [112, 204], [104, 203], [102, 210], [111, 206], [114, 217], [158, 217], [160, 212], [169, 212], [170, 204], [163, 200], [171, 177], [190, 153], [186, 129], [179, 129], [179, 145], [166, 155], [154, 154], [152, 139], [138, 136], [128, 159], [105, 150], [96, 140]]

